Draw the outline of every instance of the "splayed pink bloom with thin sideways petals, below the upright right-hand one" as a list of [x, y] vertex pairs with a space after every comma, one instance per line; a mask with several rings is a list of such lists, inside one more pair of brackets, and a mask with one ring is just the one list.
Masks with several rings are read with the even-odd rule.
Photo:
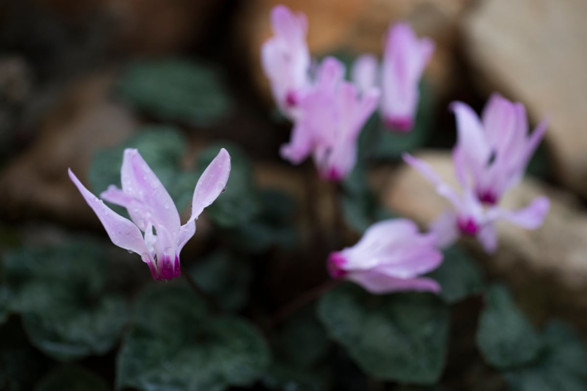
[[476, 237], [487, 253], [493, 253], [497, 250], [495, 221], [504, 219], [525, 229], [537, 229], [550, 208], [550, 202], [544, 196], [535, 198], [530, 205], [519, 210], [507, 210], [497, 205], [487, 207], [477, 198], [473, 188], [463, 186], [463, 193], [459, 194], [444, 183], [426, 162], [409, 154], [404, 154], [403, 159], [433, 183], [436, 192], [454, 208], [441, 214], [431, 224], [430, 230], [436, 233], [439, 247], [449, 246], [459, 234], [464, 234]]

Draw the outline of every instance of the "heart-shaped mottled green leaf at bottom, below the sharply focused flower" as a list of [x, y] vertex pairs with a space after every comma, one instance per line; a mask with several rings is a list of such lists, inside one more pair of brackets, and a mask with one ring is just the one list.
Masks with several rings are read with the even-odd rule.
[[224, 390], [265, 372], [269, 350], [255, 327], [207, 314], [184, 285], [157, 284], [136, 302], [135, 325], [120, 349], [117, 389]]

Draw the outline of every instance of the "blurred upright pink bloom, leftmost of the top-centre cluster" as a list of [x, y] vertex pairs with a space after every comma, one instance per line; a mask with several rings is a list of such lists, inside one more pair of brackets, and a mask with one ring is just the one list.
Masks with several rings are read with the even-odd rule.
[[261, 64], [279, 109], [294, 119], [299, 100], [310, 85], [308, 21], [302, 12], [277, 5], [271, 10], [271, 26], [274, 36], [261, 47]]

